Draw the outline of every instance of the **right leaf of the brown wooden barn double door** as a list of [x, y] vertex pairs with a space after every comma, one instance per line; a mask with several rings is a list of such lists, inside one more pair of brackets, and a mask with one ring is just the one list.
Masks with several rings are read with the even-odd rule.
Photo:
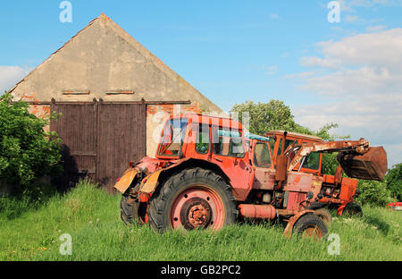
[[145, 104], [99, 103], [96, 178], [110, 192], [129, 163], [147, 154], [146, 117]]

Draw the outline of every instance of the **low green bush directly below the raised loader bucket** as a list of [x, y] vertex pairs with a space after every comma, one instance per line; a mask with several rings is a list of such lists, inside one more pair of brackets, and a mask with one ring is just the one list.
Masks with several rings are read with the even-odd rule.
[[385, 182], [359, 180], [357, 189], [360, 190], [357, 201], [362, 204], [385, 207], [389, 202], [393, 201]]

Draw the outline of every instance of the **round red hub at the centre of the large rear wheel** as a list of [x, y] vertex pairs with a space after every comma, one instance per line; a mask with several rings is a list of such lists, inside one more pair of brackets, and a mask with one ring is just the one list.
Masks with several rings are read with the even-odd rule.
[[212, 208], [205, 199], [188, 199], [181, 207], [181, 224], [188, 230], [196, 227], [207, 227], [211, 223]]

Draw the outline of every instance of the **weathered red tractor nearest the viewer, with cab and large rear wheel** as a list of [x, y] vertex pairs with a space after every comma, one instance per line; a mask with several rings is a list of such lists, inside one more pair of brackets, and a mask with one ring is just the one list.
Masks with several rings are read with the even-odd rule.
[[248, 151], [237, 121], [200, 114], [172, 117], [164, 125], [156, 158], [130, 166], [114, 186], [123, 194], [122, 220], [164, 232], [219, 230], [238, 218], [279, 218], [288, 222], [288, 236], [296, 231], [322, 237], [327, 226], [310, 208], [322, 178], [293, 171], [284, 152], [273, 169], [264, 140]]

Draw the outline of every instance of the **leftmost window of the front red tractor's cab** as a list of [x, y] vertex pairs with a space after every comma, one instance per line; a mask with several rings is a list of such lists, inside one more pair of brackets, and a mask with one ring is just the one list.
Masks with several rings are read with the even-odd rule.
[[186, 136], [187, 118], [176, 118], [168, 121], [163, 129], [159, 145], [159, 156], [178, 156]]

